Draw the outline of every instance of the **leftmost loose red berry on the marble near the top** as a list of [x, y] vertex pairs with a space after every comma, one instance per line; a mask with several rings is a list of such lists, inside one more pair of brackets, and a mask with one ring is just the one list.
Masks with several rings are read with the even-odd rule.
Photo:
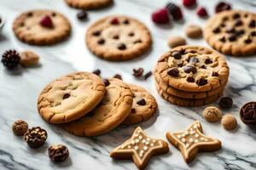
[[166, 8], [161, 8], [152, 14], [152, 20], [157, 24], [166, 24], [170, 21]]

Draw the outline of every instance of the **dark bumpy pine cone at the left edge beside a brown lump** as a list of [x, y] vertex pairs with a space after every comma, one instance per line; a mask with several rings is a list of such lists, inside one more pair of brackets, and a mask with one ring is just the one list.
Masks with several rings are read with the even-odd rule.
[[8, 50], [2, 56], [2, 63], [8, 69], [14, 69], [20, 64], [20, 54], [15, 50]]

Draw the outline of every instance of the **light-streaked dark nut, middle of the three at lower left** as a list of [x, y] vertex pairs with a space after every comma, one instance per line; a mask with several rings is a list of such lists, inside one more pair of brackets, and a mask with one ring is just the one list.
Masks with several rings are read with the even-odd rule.
[[47, 139], [47, 132], [41, 127], [32, 127], [24, 135], [25, 142], [31, 148], [42, 146]]

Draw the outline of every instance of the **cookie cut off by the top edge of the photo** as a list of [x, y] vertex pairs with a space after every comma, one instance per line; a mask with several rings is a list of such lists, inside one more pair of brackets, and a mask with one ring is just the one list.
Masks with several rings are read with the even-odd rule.
[[113, 0], [66, 0], [66, 3], [73, 8], [96, 9], [107, 7]]

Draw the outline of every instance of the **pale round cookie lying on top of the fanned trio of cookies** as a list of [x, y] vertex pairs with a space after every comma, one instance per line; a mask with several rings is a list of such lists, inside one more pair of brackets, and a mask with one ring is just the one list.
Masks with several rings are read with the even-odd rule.
[[57, 78], [38, 97], [38, 112], [46, 122], [72, 122], [100, 103], [104, 82], [89, 72], [75, 72]]

